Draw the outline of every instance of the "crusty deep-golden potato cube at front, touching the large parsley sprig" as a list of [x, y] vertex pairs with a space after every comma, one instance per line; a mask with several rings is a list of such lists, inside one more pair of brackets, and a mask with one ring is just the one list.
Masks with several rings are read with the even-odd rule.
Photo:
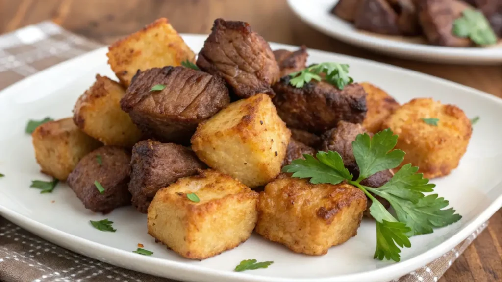
[[325, 254], [357, 234], [365, 209], [366, 196], [354, 186], [283, 174], [260, 193], [256, 232], [295, 252]]

